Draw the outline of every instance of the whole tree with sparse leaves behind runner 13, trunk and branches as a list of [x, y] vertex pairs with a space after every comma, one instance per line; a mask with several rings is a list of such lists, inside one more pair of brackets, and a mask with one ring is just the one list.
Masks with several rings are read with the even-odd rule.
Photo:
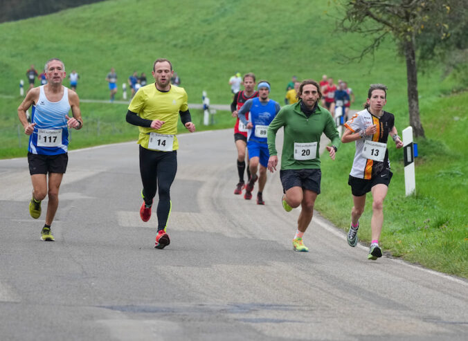
[[[389, 35], [397, 43], [406, 61], [410, 125], [416, 137], [424, 137], [417, 93], [417, 51], [421, 46], [426, 53], [434, 52], [439, 45], [449, 46], [452, 33], [466, 28], [466, 0], [346, 0], [344, 6], [339, 28], [372, 37], [357, 58], [373, 53]], [[453, 45], [460, 45], [455, 40], [451, 39]], [[419, 57], [431, 59], [433, 55]]]

